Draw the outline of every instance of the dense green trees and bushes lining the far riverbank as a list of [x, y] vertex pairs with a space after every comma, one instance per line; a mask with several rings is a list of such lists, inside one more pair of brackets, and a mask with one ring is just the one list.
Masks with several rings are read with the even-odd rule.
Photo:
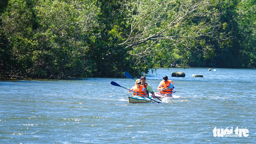
[[256, 0], [1, 0], [0, 77], [256, 68]]

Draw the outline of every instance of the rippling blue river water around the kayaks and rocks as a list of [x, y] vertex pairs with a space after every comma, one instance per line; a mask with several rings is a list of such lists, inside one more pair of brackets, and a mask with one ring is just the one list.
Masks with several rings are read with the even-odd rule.
[[[132, 88], [130, 78], [1, 79], [0, 143], [256, 142], [256, 69], [158, 69], [146, 82], [156, 91], [164, 75], [181, 98], [129, 104], [131, 93], [110, 82]], [[245, 135], [233, 136], [237, 126]]]

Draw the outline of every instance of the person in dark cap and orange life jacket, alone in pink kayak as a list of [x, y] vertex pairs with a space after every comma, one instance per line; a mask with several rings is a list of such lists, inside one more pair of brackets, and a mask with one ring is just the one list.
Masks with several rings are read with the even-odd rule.
[[[171, 85], [173, 85], [173, 82], [171, 80], [168, 80], [168, 76], [163, 76], [163, 81], [160, 82], [160, 84], [157, 87], [157, 90], [160, 91], [161, 94], [164, 94], [166, 96], [171, 95], [173, 93], [173, 87], [168, 88]], [[165, 88], [168, 88], [168, 89], [165, 89]]]

